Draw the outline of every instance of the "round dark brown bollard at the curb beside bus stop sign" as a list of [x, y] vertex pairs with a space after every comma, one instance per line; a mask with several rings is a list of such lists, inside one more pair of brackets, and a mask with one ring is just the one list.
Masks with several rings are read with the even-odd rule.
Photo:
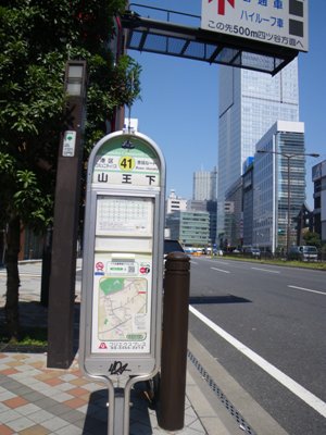
[[167, 256], [164, 278], [161, 386], [158, 421], [166, 431], [185, 424], [190, 261], [184, 252]]

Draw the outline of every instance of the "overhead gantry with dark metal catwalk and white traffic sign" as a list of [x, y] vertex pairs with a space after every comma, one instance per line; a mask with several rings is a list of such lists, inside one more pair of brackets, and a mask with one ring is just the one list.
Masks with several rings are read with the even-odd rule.
[[272, 75], [308, 51], [308, 0], [202, 0], [201, 16], [130, 3], [122, 24], [127, 49]]

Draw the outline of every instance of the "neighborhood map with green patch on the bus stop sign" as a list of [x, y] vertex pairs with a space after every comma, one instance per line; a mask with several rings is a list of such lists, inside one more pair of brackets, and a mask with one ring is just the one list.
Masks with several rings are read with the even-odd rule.
[[103, 277], [99, 283], [100, 341], [145, 340], [148, 328], [146, 278]]

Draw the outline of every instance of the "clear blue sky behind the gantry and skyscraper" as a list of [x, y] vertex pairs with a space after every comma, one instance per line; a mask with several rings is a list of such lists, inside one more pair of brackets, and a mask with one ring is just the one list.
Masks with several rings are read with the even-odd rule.
[[[201, 0], [139, 0], [139, 4], [200, 15]], [[163, 20], [163, 18], [162, 18]], [[310, 0], [309, 52], [299, 53], [300, 121], [305, 123], [306, 199], [312, 207], [311, 167], [326, 159], [326, 1]], [[141, 67], [141, 100], [131, 108], [139, 130], [166, 160], [166, 194], [192, 196], [192, 174], [217, 165], [218, 65], [130, 50]], [[217, 167], [218, 170], [218, 167]]]

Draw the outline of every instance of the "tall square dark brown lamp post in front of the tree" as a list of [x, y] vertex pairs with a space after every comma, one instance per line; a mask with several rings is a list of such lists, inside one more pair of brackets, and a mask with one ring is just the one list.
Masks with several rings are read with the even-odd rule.
[[[79, 83], [74, 80], [70, 83], [71, 66], [78, 69]], [[68, 92], [68, 86], [72, 85], [66, 108], [71, 130], [61, 138], [58, 158], [48, 315], [47, 365], [55, 369], [67, 369], [74, 359], [74, 302], [85, 83], [86, 62], [68, 61], [65, 88]], [[79, 94], [75, 94], [76, 87]]]

